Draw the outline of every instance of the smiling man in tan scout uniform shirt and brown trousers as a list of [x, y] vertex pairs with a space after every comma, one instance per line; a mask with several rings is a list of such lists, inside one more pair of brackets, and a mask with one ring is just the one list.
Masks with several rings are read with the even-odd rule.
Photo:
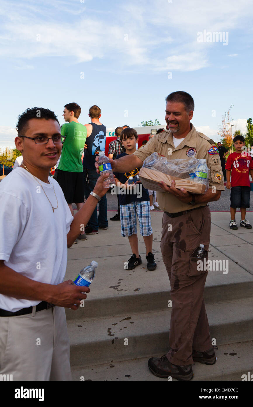
[[174, 181], [170, 188], [161, 182], [164, 193], [157, 192], [158, 204], [164, 210], [161, 252], [173, 305], [169, 351], [161, 358], [149, 359], [148, 366], [158, 377], [190, 380], [195, 361], [209, 365], [216, 361], [203, 300], [207, 271], [197, 270], [197, 262], [191, 256], [201, 243], [208, 250], [211, 225], [208, 202], [217, 201], [225, 188], [217, 147], [190, 123], [194, 110], [192, 97], [186, 92], [173, 92], [166, 102], [169, 130], [157, 133], [134, 154], [111, 162], [113, 171], [125, 173], [141, 167], [150, 154], [157, 152], [167, 160], [205, 158], [210, 168], [209, 189], [204, 195], [179, 190]]

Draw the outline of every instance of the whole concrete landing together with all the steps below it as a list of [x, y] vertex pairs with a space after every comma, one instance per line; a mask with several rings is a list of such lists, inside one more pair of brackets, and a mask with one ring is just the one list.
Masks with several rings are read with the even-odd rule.
[[[108, 219], [113, 215], [109, 212]], [[147, 358], [161, 356], [168, 347], [170, 285], [160, 252], [162, 215], [151, 212], [157, 262], [154, 271], [147, 270], [139, 232], [143, 262], [132, 271], [124, 269], [131, 249], [128, 239], [120, 234], [119, 221], [109, 220], [108, 230], [88, 235], [88, 240], [68, 249], [65, 279], [73, 280], [91, 260], [98, 263], [84, 308], [66, 309], [74, 380], [81, 376], [92, 380], [161, 380], [147, 369]], [[206, 367], [197, 363], [194, 380], [241, 380], [241, 374], [253, 369], [249, 357], [253, 340], [253, 229], [240, 227], [239, 214], [236, 217], [238, 230], [233, 231], [229, 229], [229, 212], [211, 214], [209, 259], [223, 260], [226, 268], [208, 272], [204, 298], [220, 364]], [[253, 224], [252, 212], [247, 213], [247, 219]], [[125, 338], [129, 346], [124, 346]], [[237, 354], [238, 359], [227, 357], [230, 354]], [[128, 372], [130, 376], [125, 376]]]

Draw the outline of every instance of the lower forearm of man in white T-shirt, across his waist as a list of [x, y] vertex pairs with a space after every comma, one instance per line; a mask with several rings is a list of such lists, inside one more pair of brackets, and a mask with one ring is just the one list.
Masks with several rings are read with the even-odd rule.
[[51, 302], [54, 287], [22, 276], [4, 263], [0, 267], [0, 293], [8, 297]]

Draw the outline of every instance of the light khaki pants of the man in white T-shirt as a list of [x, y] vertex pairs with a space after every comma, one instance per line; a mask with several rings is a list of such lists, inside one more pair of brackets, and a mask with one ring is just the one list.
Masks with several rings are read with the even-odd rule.
[[0, 374], [22, 381], [72, 380], [64, 308], [0, 317]]

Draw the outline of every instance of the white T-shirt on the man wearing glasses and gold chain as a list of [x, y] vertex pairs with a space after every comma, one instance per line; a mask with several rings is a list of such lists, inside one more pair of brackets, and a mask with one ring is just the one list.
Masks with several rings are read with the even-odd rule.
[[[0, 182], [0, 259], [32, 280], [59, 284], [66, 272], [67, 233], [73, 217], [60, 185], [49, 180], [50, 184], [39, 182], [54, 208], [57, 197], [54, 212], [37, 179], [24, 168], [17, 167]], [[7, 311], [39, 302], [0, 294], [0, 308]]]

